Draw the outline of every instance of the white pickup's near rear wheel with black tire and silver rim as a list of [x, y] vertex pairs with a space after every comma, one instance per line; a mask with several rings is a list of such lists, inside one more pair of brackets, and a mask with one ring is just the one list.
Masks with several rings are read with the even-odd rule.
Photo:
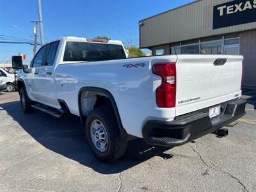
[[93, 154], [100, 161], [115, 161], [127, 148], [127, 142], [122, 140], [113, 112], [106, 107], [90, 112], [86, 118], [86, 137]]

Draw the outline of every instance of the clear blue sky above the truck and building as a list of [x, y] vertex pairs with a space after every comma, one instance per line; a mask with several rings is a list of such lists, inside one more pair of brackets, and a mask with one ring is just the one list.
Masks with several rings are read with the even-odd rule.
[[[139, 20], [190, 3], [192, 0], [41, 1], [45, 42], [60, 36], [106, 35], [125, 43], [132, 38], [132, 44], [138, 46]], [[29, 36], [33, 31], [33, 23], [30, 20], [38, 20], [37, 0], [0, 0], [0, 4], [0, 35], [33, 40]], [[0, 38], [3, 40], [3, 36]], [[39, 36], [38, 40], [40, 41]], [[33, 57], [33, 46], [0, 44], [0, 62], [10, 61], [11, 56], [18, 52], [25, 53], [29, 61]]]

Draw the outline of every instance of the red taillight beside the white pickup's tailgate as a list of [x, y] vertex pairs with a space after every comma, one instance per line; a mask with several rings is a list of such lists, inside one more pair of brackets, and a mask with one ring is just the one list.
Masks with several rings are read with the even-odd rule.
[[162, 84], [156, 89], [156, 104], [160, 108], [173, 108], [176, 102], [175, 63], [156, 63], [153, 73], [162, 77]]

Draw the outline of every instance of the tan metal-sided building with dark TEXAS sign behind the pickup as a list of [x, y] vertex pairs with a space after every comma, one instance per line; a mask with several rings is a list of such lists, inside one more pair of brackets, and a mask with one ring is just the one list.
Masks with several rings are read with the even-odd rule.
[[140, 47], [161, 54], [242, 54], [256, 86], [256, 0], [198, 0], [140, 20]]

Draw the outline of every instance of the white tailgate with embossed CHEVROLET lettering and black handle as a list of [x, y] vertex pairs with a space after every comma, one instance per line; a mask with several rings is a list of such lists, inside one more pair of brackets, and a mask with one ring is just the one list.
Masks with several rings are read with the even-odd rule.
[[176, 116], [241, 96], [243, 56], [178, 55]]

